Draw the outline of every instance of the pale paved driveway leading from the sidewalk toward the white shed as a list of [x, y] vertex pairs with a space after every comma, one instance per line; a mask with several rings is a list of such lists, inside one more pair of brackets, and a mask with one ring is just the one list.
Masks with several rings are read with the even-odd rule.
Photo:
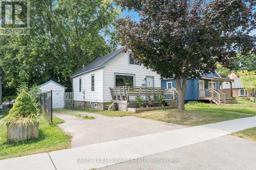
[[80, 111], [73, 112], [96, 117], [96, 119], [82, 119], [68, 114], [54, 113], [66, 121], [59, 124], [59, 127], [73, 136], [73, 147], [186, 128], [134, 116], [108, 117]]

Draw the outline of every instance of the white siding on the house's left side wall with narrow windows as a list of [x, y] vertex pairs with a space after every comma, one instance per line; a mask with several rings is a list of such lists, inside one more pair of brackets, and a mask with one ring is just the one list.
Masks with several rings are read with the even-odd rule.
[[[94, 75], [94, 91], [91, 91], [91, 75]], [[79, 79], [82, 91], [79, 92]], [[103, 102], [103, 68], [73, 78], [74, 101]], [[83, 100], [83, 90], [85, 99]]]

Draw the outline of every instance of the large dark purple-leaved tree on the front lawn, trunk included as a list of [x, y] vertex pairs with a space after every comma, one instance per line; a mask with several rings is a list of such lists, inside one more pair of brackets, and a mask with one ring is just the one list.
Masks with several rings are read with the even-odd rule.
[[163, 78], [174, 78], [179, 110], [184, 110], [187, 79], [214, 71], [219, 62], [232, 68], [237, 52], [255, 50], [252, 1], [117, 0], [134, 9], [139, 22], [118, 20], [118, 36], [145, 67]]

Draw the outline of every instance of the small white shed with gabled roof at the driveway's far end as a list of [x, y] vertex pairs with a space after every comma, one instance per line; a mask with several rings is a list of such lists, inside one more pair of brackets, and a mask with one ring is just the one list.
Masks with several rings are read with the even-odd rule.
[[47, 92], [52, 90], [52, 108], [59, 109], [64, 107], [66, 87], [58, 84], [55, 81], [48, 81], [40, 86], [42, 92]]

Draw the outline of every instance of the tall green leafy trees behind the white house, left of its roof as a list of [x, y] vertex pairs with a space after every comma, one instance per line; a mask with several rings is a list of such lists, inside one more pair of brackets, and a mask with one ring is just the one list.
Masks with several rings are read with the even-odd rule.
[[[70, 75], [117, 46], [113, 0], [30, 1], [30, 35], [0, 36], [4, 94], [21, 84], [54, 80], [72, 90]], [[107, 37], [105, 39], [105, 37]]]

